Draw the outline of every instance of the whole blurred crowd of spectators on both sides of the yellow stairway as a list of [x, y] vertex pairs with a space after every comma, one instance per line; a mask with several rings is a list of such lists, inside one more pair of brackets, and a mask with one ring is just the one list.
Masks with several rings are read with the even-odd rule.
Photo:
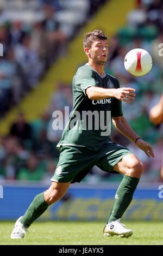
[[[0, 42], [6, 48], [4, 57], [0, 59], [0, 104], [4, 99], [12, 99], [12, 103], [4, 100], [5, 104], [0, 105], [2, 116], [9, 107], [8, 102], [17, 104], [26, 92], [36, 86], [49, 65], [58, 57], [56, 52], [59, 55], [65, 53], [66, 44], [72, 37], [72, 34], [70, 36], [64, 30], [59, 31], [55, 19], [52, 19], [55, 11], [58, 8], [60, 10], [62, 1], [53, 1], [56, 4], [53, 8], [46, 1], [39, 2], [45, 18], [43, 21], [30, 26], [28, 24], [28, 29], [20, 21], [0, 27]], [[99, 2], [104, 1], [90, 1], [87, 15], [92, 15]], [[163, 57], [158, 54], [159, 44], [163, 43], [162, 17], [161, 0], [137, 0], [136, 9], [128, 13], [126, 27], [121, 28], [110, 39], [109, 58], [105, 66], [106, 71], [120, 81], [121, 87], [136, 89], [136, 99], [130, 105], [123, 103], [123, 113], [141, 138], [153, 145], [155, 158], [149, 159], [113, 127], [111, 139], [128, 147], [141, 160], [145, 166], [145, 173], [141, 178], [144, 182], [163, 180], [160, 176], [163, 165], [163, 124], [154, 126], [149, 121], [149, 110], [159, 101], [162, 93]], [[42, 44], [45, 46], [42, 47]], [[131, 76], [124, 69], [124, 56], [134, 48], [145, 49], [152, 55], [153, 68], [146, 77]], [[28, 123], [22, 112], [18, 114], [8, 136], [1, 137], [0, 140], [0, 180], [47, 181], [53, 176], [59, 157], [56, 145], [62, 130], [53, 129], [52, 113], [59, 110], [64, 116], [65, 106], [69, 106], [71, 111], [72, 88], [71, 85], [59, 82], [57, 91], [40, 118]], [[85, 181], [119, 181], [120, 178], [121, 175], [102, 172], [95, 166]]]

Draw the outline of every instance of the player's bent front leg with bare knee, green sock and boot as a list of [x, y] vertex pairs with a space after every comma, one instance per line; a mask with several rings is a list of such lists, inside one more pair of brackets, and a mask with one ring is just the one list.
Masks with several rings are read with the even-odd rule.
[[113, 170], [123, 174], [123, 180], [117, 189], [114, 205], [104, 228], [105, 235], [120, 235], [128, 237], [133, 234], [131, 229], [124, 228], [120, 222], [123, 213], [131, 203], [134, 191], [139, 183], [139, 178], [143, 172], [143, 165], [133, 154], [126, 154], [113, 168]]

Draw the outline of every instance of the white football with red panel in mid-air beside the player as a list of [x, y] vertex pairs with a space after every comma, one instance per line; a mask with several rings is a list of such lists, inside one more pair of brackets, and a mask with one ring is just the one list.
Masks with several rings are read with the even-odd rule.
[[146, 50], [133, 49], [125, 56], [124, 67], [131, 75], [146, 75], [152, 69], [152, 57]]

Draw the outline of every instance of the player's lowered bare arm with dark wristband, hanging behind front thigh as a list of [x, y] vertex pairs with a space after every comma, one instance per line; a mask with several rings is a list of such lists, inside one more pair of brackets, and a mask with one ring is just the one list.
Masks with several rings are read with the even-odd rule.
[[[136, 139], [139, 138], [139, 135], [136, 134], [134, 130], [130, 127], [124, 116], [112, 117], [112, 123], [120, 133], [122, 133], [124, 136], [126, 136], [126, 138], [133, 141], [134, 143]], [[148, 157], [154, 157], [152, 146], [148, 142], [140, 138], [136, 141], [136, 145], [141, 150], [143, 150]]]

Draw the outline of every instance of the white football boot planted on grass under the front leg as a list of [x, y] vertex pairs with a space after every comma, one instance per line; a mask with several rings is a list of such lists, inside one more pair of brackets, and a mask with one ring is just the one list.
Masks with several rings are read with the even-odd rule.
[[126, 238], [133, 235], [133, 231], [131, 229], [126, 229], [125, 225], [123, 225], [120, 221], [121, 219], [117, 219], [116, 221], [106, 224], [103, 230], [104, 235], [121, 236]]

